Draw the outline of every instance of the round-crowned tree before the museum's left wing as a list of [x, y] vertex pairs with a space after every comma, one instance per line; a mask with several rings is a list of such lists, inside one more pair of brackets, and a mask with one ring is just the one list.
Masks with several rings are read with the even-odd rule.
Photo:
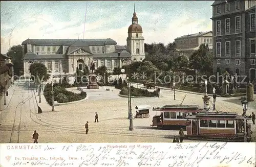
[[38, 81], [38, 79], [42, 81], [47, 81], [50, 78], [47, 73], [47, 68], [45, 64], [38, 63], [38, 62], [32, 63], [29, 66], [29, 73], [31, 76], [34, 76], [34, 77], [31, 77], [31, 79], [32, 80], [36, 79], [36, 81]]

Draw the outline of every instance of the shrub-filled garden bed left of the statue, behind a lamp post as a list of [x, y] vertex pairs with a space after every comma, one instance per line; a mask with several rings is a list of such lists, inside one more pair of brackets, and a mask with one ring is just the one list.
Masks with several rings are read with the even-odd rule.
[[[81, 93], [74, 93], [62, 87], [61, 84], [55, 83], [54, 88], [54, 101], [58, 103], [69, 103], [74, 101], [80, 101], [87, 97], [87, 93], [82, 91]], [[50, 106], [52, 106], [52, 86], [47, 84], [44, 90], [44, 96]]]

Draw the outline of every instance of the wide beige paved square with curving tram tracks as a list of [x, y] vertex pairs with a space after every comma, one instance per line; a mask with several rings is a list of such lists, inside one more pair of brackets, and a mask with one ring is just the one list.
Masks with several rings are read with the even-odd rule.
[[[12, 100], [7, 100], [6, 106], [2, 105], [1, 99], [1, 143], [32, 142], [34, 130], [39, 134], [38, 142], [170, 142], [170, 135], [178, 134], [178, 131], [150, 127], [152, 116], [156, 114], [152, 110], [150, 118], [133, 120], [134, 131], [129, 131], [127, 98], [117, 96], [119, 90], [113, 87], [108, 87], [110, 91], [88, 91], [87, 101], [56, 106], [55, 111], [52, 111], [52, 107], [41, 94], [39, 106], [43, 113], [37, 114], [37, 92], [28, 89], [28, 83], [20, 83], [18, 86], [16, 83], [15, 86], [16, 88], [11, 88], [13, 91], [15, 89]], [[76, 88], [73, 91], [77, 91]], [[166, 104], [181, 104], [185, 95], [183, 105], [194, 104], [202, 107], [202, 95], [176, 91], [174, 100], [173, 91], [161, 89], [159, 98], [132, 99], [133, 112], [135, 114], [136, 105], [160, 107]], [[11, 94], [8, 98], [11, 98]], [[253, 103], [255, 104], [255, 101], [249, 104], [248, 113], [256, 109]], [[238, 98], [218, 97], [216, 108], [221, 111], [242, 113], [242, 105]], [[98, 112], [99, 123], [94, 123], [95, 112]], [[85, 134], [86, 121], [89, 121], [89, 134]], [[255, 129], [255, 126], [252, 125], [252, 128]]]

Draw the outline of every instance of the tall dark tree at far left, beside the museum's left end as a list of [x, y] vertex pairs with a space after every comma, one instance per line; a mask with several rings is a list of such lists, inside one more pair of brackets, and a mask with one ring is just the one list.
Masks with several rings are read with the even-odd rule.
[[13, 70], [14, 75], [23, 75], [24, 65], [23, 65], [23, 56], [24, 56], [24, 47], [22, 45], [12, 46], [8, 52], [7, 56], [12, 58], [13, 61]]

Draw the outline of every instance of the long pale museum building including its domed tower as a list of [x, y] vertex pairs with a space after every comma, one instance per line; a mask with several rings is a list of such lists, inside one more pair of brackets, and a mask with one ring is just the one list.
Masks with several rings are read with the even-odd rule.
[[[33, 62], [46, 65], [48, 73], [54, 75], [74, 74], [76, 67], [90, 67], [94, 61], [96, 68], [105, 65], [108, 70], [121, 67], [133, 61], [142, 61], [144, 38], [138, 25], [136, 13], [128, 29], [127, 47], [118, 46], [111, 38], [107, 39], [27, 39], [25, 47], [24, 75], [29, 75], [29, 66]], [[126, 50], [127, 48], [127, 50]]]

